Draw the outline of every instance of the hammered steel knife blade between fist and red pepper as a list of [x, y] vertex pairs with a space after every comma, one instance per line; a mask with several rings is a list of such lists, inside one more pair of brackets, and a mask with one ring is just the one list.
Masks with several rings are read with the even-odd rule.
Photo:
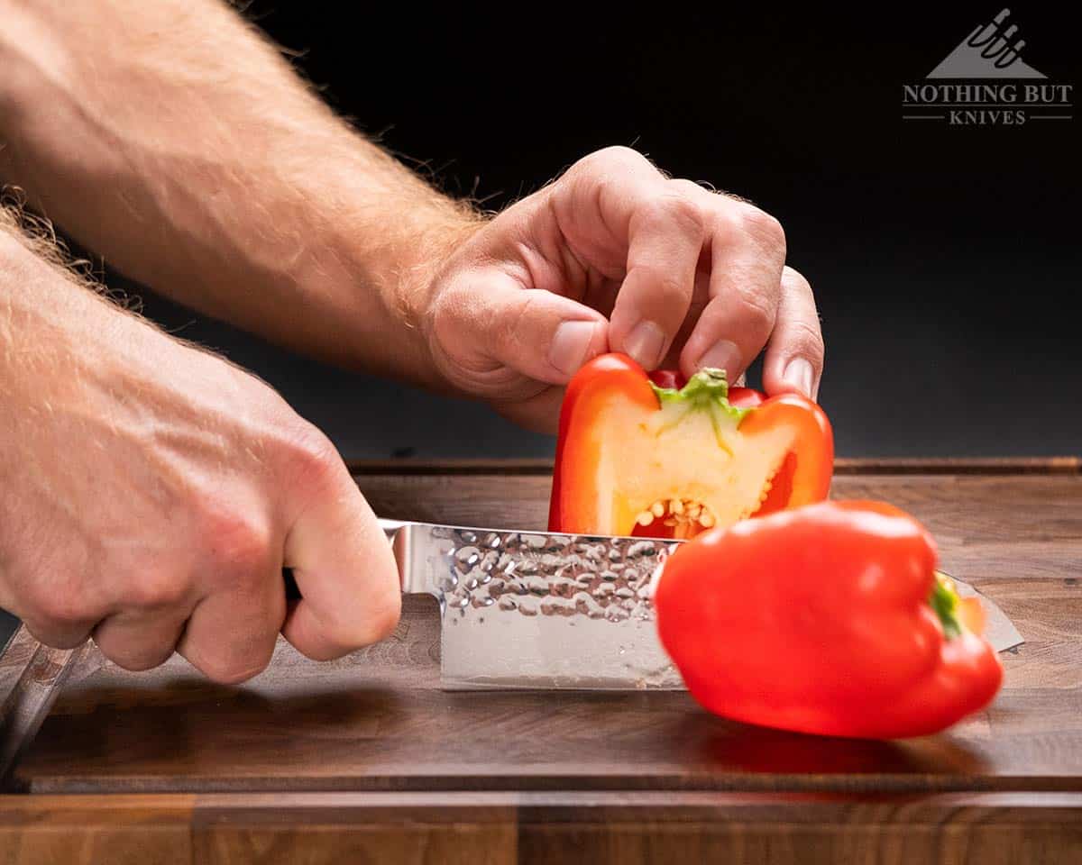
[[403, 590], [440, 604], [444, 688], [677, 689], [651, 578], [682, 543], [405, 523]]

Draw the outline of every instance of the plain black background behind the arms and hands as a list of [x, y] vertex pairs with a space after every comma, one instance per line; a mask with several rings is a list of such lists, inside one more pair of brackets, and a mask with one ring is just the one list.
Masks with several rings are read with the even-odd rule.
[[[1082, 451], [1079, 121], [900, 119], [902, 84], [1000, 6], [762, 8], [347, 18], [360, 8], [256, 0], [248, 15], [303, 52], [339, 111], [486, 207], [624, 144], [775, 214], [819, 301], [840, 454]], [[1025, 59], [1077, 84], [1063, 6], [1012, 11]], [[153, 297], [146, 309], [259, 372], [347, 458], [552, 452], [484, 407], [292, 358]]]

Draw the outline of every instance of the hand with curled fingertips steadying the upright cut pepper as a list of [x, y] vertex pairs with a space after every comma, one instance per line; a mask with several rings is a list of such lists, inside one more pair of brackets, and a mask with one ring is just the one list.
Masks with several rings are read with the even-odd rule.
[[613, 147], [476, 230], [419, 319], [453, 386], [541, 429], [560, 386], [605, 350], [736, 381], [765, 346], [766, 390], [815, 397], [819, 318], [784, 263], [773, 216]]

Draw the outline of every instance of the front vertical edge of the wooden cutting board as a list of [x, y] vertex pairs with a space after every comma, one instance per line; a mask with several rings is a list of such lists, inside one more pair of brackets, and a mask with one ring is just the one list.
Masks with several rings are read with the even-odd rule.
[[41, 862], [1066, 863], [1082, 795], [345, 793], [0, 797]]

